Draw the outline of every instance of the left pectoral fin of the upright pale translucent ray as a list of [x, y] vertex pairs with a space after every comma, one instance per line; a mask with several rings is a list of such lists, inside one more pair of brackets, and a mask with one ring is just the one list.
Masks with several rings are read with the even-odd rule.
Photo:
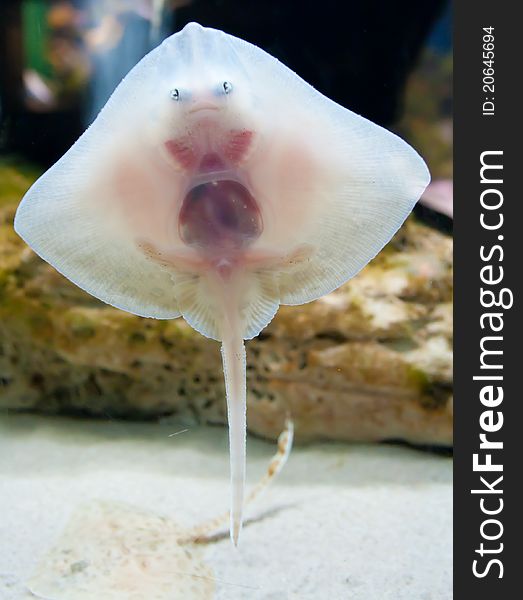
[[108, 304], [162, 319], [180, 315], [170, 273], [136, 242], [172, 250], [178, 242], [167, 226], [175, 222], [181, 174], [158, 156], [163, 130], [156, 132], [155, 120], [171, 103], [158, 93], [164, 74], [181, 68], [166, 53], [160, 46], [129, 72], [89, 129], [27, 192], [15, 218], [19, 235], [73, 283]]

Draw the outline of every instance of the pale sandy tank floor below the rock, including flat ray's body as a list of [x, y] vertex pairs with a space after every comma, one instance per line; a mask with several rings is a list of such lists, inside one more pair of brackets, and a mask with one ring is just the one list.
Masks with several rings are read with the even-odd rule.
[[[28, 581], [52, 600], [452, 598], [449, 458], [294, 448], [235, 550], [184, 539], [227, 510], [229, 481], [226, 431], [182, 429], [2, 417], [0, 598], [34, 598]], [[248, 440], [251, 486], [274, 452]]]

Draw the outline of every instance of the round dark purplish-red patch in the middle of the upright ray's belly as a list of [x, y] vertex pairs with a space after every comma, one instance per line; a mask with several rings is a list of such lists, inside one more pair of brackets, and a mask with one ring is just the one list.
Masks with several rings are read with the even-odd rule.
[[260, 209], [249, 190], [220, 174], [187, 191], [178, 227], [185, 244], [213, 254], [245, 249], [263, 231]]

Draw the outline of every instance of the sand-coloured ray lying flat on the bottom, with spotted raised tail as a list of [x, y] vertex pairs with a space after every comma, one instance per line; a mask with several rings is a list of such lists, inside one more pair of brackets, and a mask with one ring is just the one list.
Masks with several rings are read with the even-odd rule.
[[[252, 502], [278, 475], [289, 456], [293, 424], [278, 438], [278, 451], [246, 498]], [[274, 511], [272, 511], [274, 512]], [[270, 516], [250, 521], [255, 524]], [[65, 530], [27, 582], [31, 597], [45, 600], [205, 600], [217, 587], [245, 587], [215, 577], [205, 559], [208, 544], [229, 515], [193, 527], [120, 502], [91, 499], [78, 506]], [[248, 522], [249, 523], [249, 522]], [[227, 537], [227, 534], [225, 534]], [[220, 585], [221, 584], [221, 585]]]

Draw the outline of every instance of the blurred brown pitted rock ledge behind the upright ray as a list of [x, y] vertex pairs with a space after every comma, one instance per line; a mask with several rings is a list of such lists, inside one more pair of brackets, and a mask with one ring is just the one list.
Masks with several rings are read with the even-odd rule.
[[[226, 423], [219, 345], [121, 312], [17, 237], [35, 174], [0, 165], [0, 407]], [[249, 430], [298, 440], [452, 443], [452, 242], [409, 220], [351, 282], [280, 308], [247, 343]]]

